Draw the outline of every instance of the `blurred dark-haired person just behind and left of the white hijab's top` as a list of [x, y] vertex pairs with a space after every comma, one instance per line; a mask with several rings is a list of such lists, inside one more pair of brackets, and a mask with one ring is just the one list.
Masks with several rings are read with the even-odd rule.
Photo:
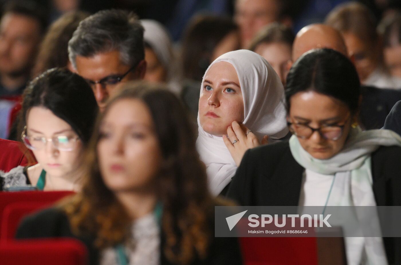
[[188, 24], [182, 41], [181, 97], [192, 117], [198, 115], [199, 88], [207, 67], [220, 55], [239, 48], [238, 26], [229, 18], [199, 15]]

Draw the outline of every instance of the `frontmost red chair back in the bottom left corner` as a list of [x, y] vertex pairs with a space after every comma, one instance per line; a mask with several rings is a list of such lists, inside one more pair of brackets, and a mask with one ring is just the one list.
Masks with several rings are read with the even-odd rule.
[[0, 263], [7, 265], [84, 265], [85, 246], [75, 239], [30, 239], [0, 244]]

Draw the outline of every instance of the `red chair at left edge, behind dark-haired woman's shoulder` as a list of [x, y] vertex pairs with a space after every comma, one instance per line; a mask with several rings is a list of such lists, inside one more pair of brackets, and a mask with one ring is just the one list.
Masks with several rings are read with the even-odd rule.
[[20, 142], [0, 139], [0, 170], [10, 171], [17, 166], [36, 164], [32, 152]]

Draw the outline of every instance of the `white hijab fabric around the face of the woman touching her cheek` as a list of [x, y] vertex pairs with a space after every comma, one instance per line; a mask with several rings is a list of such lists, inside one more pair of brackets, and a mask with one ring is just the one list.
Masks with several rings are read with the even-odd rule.
[[[273, 67], [260, 55], [248, 50], [225, 53], [217, 58], [205, 72], [218, 62], [228, 62], [237, 72], [244, 102], [243, 124], [261, 140], [264, 135], [279, 139], [288, 133], [284, 88]], [[203, 88], [202, 80], [201, 92]], [[218, 195], [229, 184], [237, 166], [220, 136], [202, 129], [198, 113], [199, 136], [196, 148], [207, 166], [209, 188]]]

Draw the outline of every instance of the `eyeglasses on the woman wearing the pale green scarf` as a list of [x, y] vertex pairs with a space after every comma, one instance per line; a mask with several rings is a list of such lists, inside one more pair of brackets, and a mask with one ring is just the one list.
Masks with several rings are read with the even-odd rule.
[[[347, 118], [348, 121], [348, 118]], [[323, 125], [319, 128], [312, 128], [309, 125], [302, 123], [292, 123], [287, 122], [288, 128], [291, 133], [296, 135], [301, 139], [309, 138], [315, 131], [317, 131], [322, 138], [326, 140], [337, 140], [342, 136], [342, 132], [344, 131], [344, 125]]]

